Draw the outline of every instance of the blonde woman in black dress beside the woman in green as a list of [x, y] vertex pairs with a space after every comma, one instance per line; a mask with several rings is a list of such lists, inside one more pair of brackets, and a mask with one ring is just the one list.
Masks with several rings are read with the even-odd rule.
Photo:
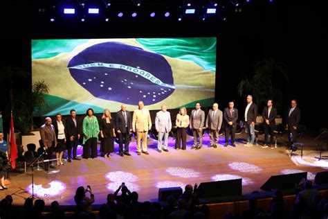
[[104, 114], [102, 114], [102, 119], [100, 121], [100, 136], [101, 155], [107, 155], [107, 157], [111, 157], [111, 152], [114, 152], [113, 138], [116, 137], [116, 134], [113, 119], [111, 119], [111, 112], [109, 109], [104, 109]]

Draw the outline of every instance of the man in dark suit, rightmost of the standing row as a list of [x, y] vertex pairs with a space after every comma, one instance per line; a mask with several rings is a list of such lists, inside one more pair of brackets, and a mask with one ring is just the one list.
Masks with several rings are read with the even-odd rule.
[[298, 141], [298, 125], [300, 123], [300, 108], [298, 108], [298, 102], [296, 100], [291, 100], [291, 107], [288, 109], [287, 114], [287, 124], [286, 128], [288, 130], [289, 146], [294, 142]]

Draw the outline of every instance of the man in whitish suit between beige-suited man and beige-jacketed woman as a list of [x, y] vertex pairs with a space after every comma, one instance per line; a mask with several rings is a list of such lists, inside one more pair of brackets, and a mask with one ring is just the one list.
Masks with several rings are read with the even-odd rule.
[[[161, 111], [156, 113], [155, 127], [158, 133], [158, 143], [157, 149], [158, 152], [168, 152], [167, 150], [167, 139], [169, 138], [169, 132], [172, 129], [171, 114], [167, 112], [167, 107], [165, 105], [161, 106]], [[162, 143], [164, 137], [164, 145]]]

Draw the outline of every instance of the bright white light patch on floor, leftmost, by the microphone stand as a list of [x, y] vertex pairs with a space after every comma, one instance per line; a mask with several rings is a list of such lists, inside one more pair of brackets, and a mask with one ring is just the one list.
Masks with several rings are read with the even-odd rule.
[[[34, 195], [39, 198], [53, 197], [59, 195], [60, 193], [63, 193], [66, 190], [66, 186], [63, 182], [55, 180], [48, 184], [50, 185], [50, 187], [48, 188], [43, 188], [42, 184], [34, 184]], [[28, 185], [26, 191], [28, 191], [28, 193], [32, 195], [32, 184]]]

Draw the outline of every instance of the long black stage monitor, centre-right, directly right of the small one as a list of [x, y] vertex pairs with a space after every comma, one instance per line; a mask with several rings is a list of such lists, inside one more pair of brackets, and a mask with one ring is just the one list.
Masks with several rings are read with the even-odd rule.
[[202, 182], [197, 192], [200, 198], [242, 195], [242, 179]]

